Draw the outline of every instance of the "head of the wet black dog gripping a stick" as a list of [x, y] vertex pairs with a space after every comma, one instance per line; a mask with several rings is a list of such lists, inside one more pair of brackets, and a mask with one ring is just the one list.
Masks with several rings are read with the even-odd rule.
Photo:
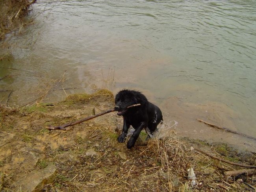
[[[143, 100], [143, 101], [142, 101]], [[147, 98], [138, 91], [124, 89], [115, 96], [115, 110], [117, 115], [124, 115], [128, 110], [135, 110], [136, 107], [127, 109], [130, 105], [143, 104], [147, 102]]]

